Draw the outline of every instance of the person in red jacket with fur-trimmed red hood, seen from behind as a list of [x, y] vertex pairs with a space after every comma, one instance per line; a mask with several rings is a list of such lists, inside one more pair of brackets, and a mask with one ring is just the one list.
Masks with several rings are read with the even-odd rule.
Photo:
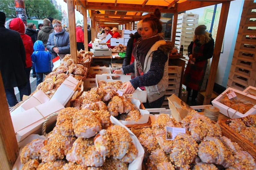
[[22, 22], [20, 18], [14, 18], [14, 19], [9, 19], [8, 21], [5, 22], [5, 28], [17, 31], [20, 33], [20, 37], [23, 41], [25, 51], [26, 51], [26, 75], [27, 75], [27, 90], [28, 90], [28, 95], [31, 94], [31, 87], [30, 87], [30, 71], [32, 67], [32, 61], [31, 61], [31, 55], [33, 53], [33, 42], [31, 37], [29, 37], [27, 34], [25, 34], [25, 25]]

